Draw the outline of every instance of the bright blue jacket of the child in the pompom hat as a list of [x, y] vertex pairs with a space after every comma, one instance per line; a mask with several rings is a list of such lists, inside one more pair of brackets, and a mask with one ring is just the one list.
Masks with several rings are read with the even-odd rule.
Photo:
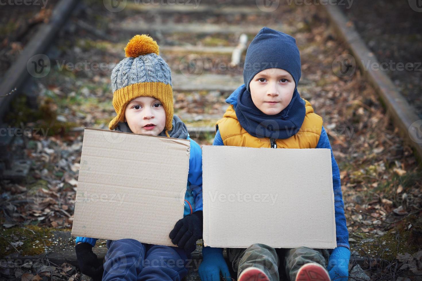
[[[202, 211], [202, 150], [189, 136], [187, 139], [190, 140], [190, 156], [186, 187], [187, 193], [185, 194], [184, 200], [184, 217], [195, 211]], [[76, 244], [79, 242], [86, 242], [95, 246], [97, 238], [77, 236]]]

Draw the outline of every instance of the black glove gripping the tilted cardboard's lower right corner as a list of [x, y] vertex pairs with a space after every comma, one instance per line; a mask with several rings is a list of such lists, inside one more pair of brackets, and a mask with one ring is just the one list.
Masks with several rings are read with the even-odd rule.
[[171, 242], [186, 252], [196, 249], [196, 241], [202, 238], [202, 211], [196, 211], [176, 222], [169, 235]]

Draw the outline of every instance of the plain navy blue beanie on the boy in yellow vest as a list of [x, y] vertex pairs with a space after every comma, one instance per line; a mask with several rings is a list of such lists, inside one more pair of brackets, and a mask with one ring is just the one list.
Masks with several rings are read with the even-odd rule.
[[[263, 27], [246, 51], [243, 82], [250, 93], [249, 83], [258, 72], [268, 68], [281, 68], [292, 75], [298, 87], [300, 54], [296, 40], [277, 30]], [[296, 91], [295, 88], [295, 91]]]

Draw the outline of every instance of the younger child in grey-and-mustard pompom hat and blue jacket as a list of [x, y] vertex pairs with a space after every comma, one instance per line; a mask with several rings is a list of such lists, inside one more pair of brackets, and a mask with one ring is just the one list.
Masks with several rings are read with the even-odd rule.
[[202, 237], [202, 152], [189, 138], [185, 124], [173, 115], [171, 72], [159, 56], [157, 43], [147, 35], [136, 35], [124, 50], [127, 58], [111, 73], [117, 116], [108, 128], [190, 140], [184, 217], [169, 234], [179, 247], [107, 240], [103, 265], [92, 252], [97, 239], [77, 237], [76, 256], [81, 272], [95, 280], [181, 280], [187, 274], [190, 253]]

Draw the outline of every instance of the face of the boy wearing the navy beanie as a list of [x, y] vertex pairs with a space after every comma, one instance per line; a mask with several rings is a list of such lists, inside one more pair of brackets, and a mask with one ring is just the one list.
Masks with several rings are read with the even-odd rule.
[[267, 115], [284, 110], [292, 100], [295, 87], [292, 75], [280, 68], [262, 70], [249, 83], [252, 102]]

